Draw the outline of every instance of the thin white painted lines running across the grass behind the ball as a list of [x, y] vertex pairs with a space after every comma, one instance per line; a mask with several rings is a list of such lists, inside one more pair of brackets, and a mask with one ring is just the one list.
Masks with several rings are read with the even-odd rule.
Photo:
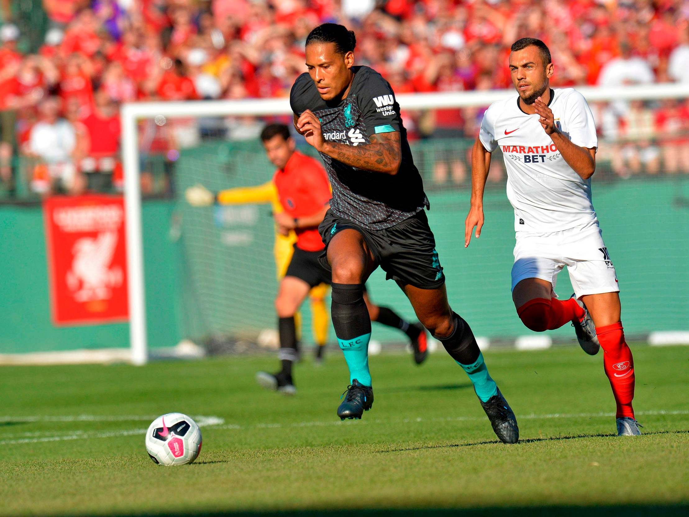
[[[665, 409], [659, 409], [656, 411], [639, 411], [636, 412], [638, 416], [659, 416], [659, 415], [687, 415], [689, 414], [689, 410], [686, 409], [679, 409], [679, 410], [672, 410], [672, 411], [667, 411]], [[82, 415], [82, 416], [89, 416], [89, 415]], [[615, 413], [606, 413], [606, 412], [599, 412], [599, 413], [551, 413], [551, 414], [528, 414], [528, 415], [520, 415], [517, 416], [517, 420], [547, 420], [549, 418], [602, 418], [602, 417], [611, 417], [615, 416]], [[9, 417], [0, 417], [0, 421], [2, 418], [9, 418]], [[53, 418], [53, 417], [21, 417], [21, 418], [32, 418], [32, 420], [23, 420], [27, 422], [36, 422], [36, 421], [55, 421], [55, 420], [43, 420], [43, 418]], [[68, 418], [68, 417], [62, 417], [62, 418]], [[97, 417], [96, 417], [97, 418]], [[80, 420], [60, 420], [60, 421], [66, 421], [66, 422], [71, 422], [71, 421], [100, 421], [96, 420], [96, 418], [90, 420], [88, 418], [82, 418]], [[121, 421], [132, 421], [132, 420], [148, 420], [148, 417], [120, 417], [122, 418]], [[217, 416], [213, 417], [197, 417], [198, 420], [201, 418], [209, 418], [210, 419], [215, 419], [211, 420], [214, 422], [220, 422], [220, 423], [211, 423], [207, 424], [206, 426], [211, 426], [215, 427], [216, 429], [232, 429], [232, 430], [246, 430], [246, 429], [280, 429], [284, 427], [312, 427], [312, 426], [331, 426], [331, 425], [350, 425], [348, 423], [342, 422], [341, 420], [333, 420], [329, 422], [296, 422], [296, 423], [291, 423], [291, 424], [280, 424], [280, 423], [258, 423], [258, 424], [252, 424], [252, 425], [238, 425], [238, 424], [225, 424], [222, 425], [225, 420], [223, 418], [219, 418]], [[196, 420], [196, 419], [195, 419]], [[362, 425], [362, 424], [379, 424], [379, 423], [419, 423], [419, 422], [424, 422], [424, 421], [429, 421], [429, 422], [472, 422], [475, 420], [483, 420], [483, 418], [478, 418], [476, 416], [449, 416], [446, 418], [404, 418], [403, 420], [385, 420], [385, 419], [367, 419], [367, 420], [361, 420], [359, 423], [356, 423], [356, 425]], [[8, 420], [9, 421], [9, 420]], [[17, 420], [14, 420], [17, 421]], [[105, 421], [120, 421], [116, 420], [116, 417], [108, 418]], [[32, 436], [32, 437], [27, 437], [27, 438], [19, 438], [19, 439], [12, 439], [12, 440], [0, 440], [0, 445], [15, 445], [15, 444], [20, 444], [20, 443], [41, 443], [41, 442], [55, 442], [55, 441], [61, 441], [61, 440], [79, 440], [79, 439], [86, 439], [86, 438], [115, 438], [117, 436], [132, 436], [134, 434], [144, 434], [146, 432], [146, 429], [123, 429], [120, 431], [103, 431], [103, 432], [85, 432], [85, 431], [72, 431], [69, 434], [61, 434], [61, 435], [54, 435], [54, 436], [37, 436], [41, 433], [26, 433], [23, 435], [14, 435], [14, 436]], [[5, 435], [7, 436], [7, 435]]]

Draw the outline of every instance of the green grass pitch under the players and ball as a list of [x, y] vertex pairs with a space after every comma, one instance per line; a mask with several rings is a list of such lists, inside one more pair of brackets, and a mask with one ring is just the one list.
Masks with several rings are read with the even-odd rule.
[[[486, 352], [519, 419], [497, 443], [439, 351], [371, 358], [376, 402], [340, 422], [338, 350], [296, 366], [298, 394], [254, 383], [270, 356], [0, 369], [1, 515], [689, 515], [689, 348], [633, 345], [644, 436], [615, 433], [601, 355]], [[148, 458], [159, 414], [199, 418], [192, 465]]]

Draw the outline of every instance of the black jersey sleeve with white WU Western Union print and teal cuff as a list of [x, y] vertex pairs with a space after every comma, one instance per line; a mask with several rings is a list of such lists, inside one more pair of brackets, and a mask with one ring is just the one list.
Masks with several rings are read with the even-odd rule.
[[399, 131], [400, 105], [390, 83], [378, 72], [371, 71], [360, 84], [362, 88], [357, 94], [358, 104], [369, 136]]

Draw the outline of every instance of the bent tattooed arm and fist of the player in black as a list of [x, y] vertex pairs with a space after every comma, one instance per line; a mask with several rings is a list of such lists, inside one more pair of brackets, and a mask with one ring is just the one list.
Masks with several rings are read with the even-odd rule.
[[368, 145], [347, 145], [323, 138], [320, 121], [310, 110], [301, 114], [295, 124], [307, 143], [331, 158], [358, 169], [383, 174], [397, 174], [402, 163], [400, 132], [372, 134]]

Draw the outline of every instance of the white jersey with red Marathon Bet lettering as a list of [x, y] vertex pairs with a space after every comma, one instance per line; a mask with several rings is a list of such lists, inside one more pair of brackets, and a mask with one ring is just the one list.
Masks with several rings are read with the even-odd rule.
[[[593, 114], [573, 88], [551, 90], [555, 125], [572, 143], [597, 148]], [[515, 209], [515, 231], [559, 232], [596, 221], [591, 180], [582, 179], [543, 130], [537, 114], [519, 105], [519, 95], [491, 104], [479, 138], [493, 152], [500, 146], [507, 170], [507, 197]]]

